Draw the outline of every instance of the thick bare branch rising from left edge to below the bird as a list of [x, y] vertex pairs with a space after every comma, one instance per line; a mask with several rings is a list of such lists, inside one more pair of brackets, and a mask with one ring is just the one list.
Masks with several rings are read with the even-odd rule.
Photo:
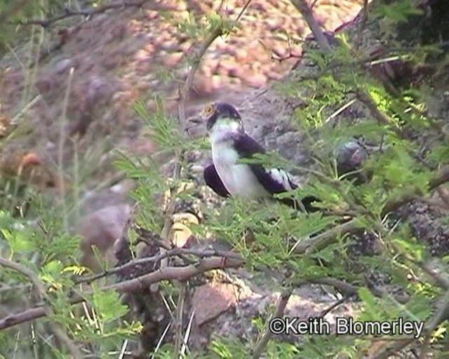
[[[222, 257], [213, 257], [201, 259], [196, 264], [189, 266], [168, 266], [161, 268], [152, 273], [145, 274], [145, 276], [139, 276], [130, 280], [126, 280], [121, 283], [115, 283], [100, 288], [100, 290], [118, 290], [119, 292], [136, 292], [141, 290], [142, 287], [149, 287], [153, 283], [161, 280], [188, 280], [194, 276], [197, 276], [206, 271], [213, 269], [226, 269], [226, 268], [238, 268], [243, 265], [243, 260], [236, 258], [229, 258], [227, 261], [223, 261]], [[83, 297], [77, 296], [70, 300], [70, 304], [78, 304], [84, 302], [87, 297], [91, 296], [93, 292], [84, 292]], [[46, 310], [42, 307], [36, 307], [27, 309], [20, 313], [11, 314], [6, 318], [0, 320], [0, 330], [18, 325], [20, 323], [27, 322], [32, 319], [41, 318], [46, 316]]]

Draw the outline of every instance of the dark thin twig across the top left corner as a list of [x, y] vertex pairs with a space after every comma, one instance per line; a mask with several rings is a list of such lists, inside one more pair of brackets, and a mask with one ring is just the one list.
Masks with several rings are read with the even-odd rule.
[[91, 7], [91, 8], [85, 8], [81, 10], [73, 10], [71, 8], [65, 8], [65, 11], [63, 14], [56, 15], [53, 18], [43, 19], [43, 20], [37, 20], [37, 19], [31, 19], [31, 20], [25, 20], [25, 21], [18, 21], [18, 22], [10, 22], [11, 25], [39, 25], [43, 27], [44, 29], [53, 24], [53, 22], [58, 22], [60, 20], [64, 20], [67, 18], [72, 18], [74, 16], [85, 16], [89, 17], [92, 15], [97, 15], [100, 13], [104, 13], [105, 11], [112, 10], [114, 8], [130, 8], [130, 7], [137, 7], [140, 8], [145, 3], [149, 2], [150, 0], [140, 0], [140, 1], [116, 1], [112, 4], [107, 4], [104, 6], [98, 6], [98, 7]]

